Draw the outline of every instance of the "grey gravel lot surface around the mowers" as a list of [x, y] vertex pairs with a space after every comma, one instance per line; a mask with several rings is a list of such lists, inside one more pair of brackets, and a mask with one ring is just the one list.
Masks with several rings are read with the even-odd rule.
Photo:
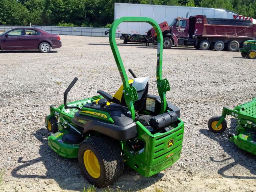
[[[62, 48], [48, 54], [0, 52], [0, 167], [7, 167], [0, 190], [81, 191], [90, 186], [76, 159], [62, 158], [48, 147], [44, 117], [50, 105], [62, 104], [64, 90], [75, 76], [79, 80], [69, 101], [97, 95], [97, 90], [114, 94], [121, 78], [108, 38], [61, 38]], [[157, 94], [156, 47], [121, 43], [118, 47], [126, 69], [150, 76], [149, 93]], [[234, 108], [256, 96], [255, 66], [256, 60], [242, 58], [239, 52], [164, 50], [163, 77], [171, 85], [167, 98], [180, 107], [185, 122], [182, 155], [171, 168], [150, 178], [126, 167], [110, 188], [255, 191], [255, 156], [227, 139], [228, 132], [235, 132], [235, 120], [227, 119], [224, 134], [207, 128], [208, 119], [220, 115], [223, 106]]]

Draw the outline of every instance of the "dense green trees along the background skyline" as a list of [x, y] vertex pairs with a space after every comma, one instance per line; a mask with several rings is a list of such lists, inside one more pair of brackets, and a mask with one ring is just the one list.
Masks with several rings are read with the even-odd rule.
[[115, 2], [223, 8], [256, 18], [256, 0], [0, 0], [0, 25], [109, 27]]

